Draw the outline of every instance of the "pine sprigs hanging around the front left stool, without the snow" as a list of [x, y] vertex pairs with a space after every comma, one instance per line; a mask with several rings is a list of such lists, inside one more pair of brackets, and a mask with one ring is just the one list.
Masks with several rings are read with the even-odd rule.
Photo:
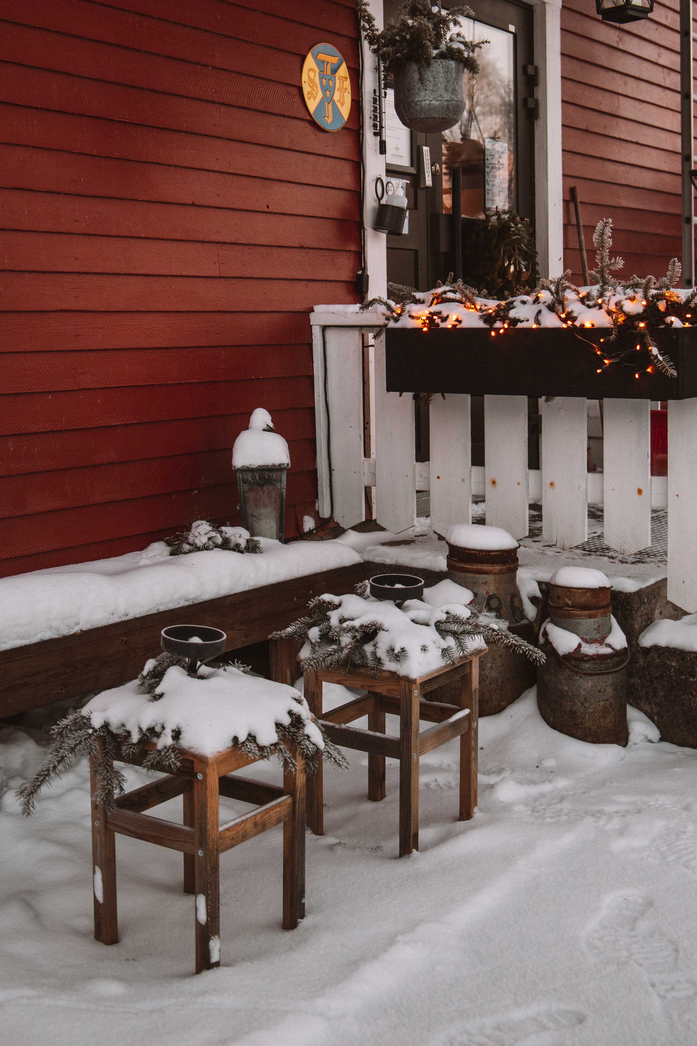
[[[150, 695], [150, 701], [158, 701], [162, 693], [158, 692], [165, 673], [172, 665], [179, 665], [185, 672], [187, 661], [185, 658], [178, 658], [171, 654], [161, 654], [155, 662], [145, 666], [138, 677], [139, 688]], [[238, 661], [233, 667], [240, 672], [251, 673], [248, 665]], [[206, 673], [212, 675], [211, 669], [201, 666], [199, 678]], [[195, 674], [188, 673], [191, 678], [196, 678]], [[302, 704], [302, 698], [298, 696], [298, 704]], [[305, 769], [312, 774], [321, 765], [322, 758], [326, 763], [332, 764], [342, 770], [348, 767], [348, 761], [341, 749], [324, 735], [320, 724], [315, 725], [320, 730], [324, 741], [324, 749], [319, 749], [305, 733], [305, 721], [302, 715], [291, 711], [291, 722], [288, 724], [277, 723], [277, 741], [272, 745], [259, 745], [256, 736], [252, 733], [240, 743], [239, 738], [230, 738], [230, 745], [238, 745], [243, 752], [256, 759], [268, 760], [273, 755], [277, 755], [283, 767], [293, 773], [298, 769], [296, 759], [291, 751], [297, 747], [303, 755]], [[173, 744], [164, 745], [161, 748], [148, 749], [146, 746], [153, 742], [158, 742], [164, 732], [164, 727], [141, 731], [140, 735], [133, 740], [129, 736], [125, 726], [121, 729], [112, 729], [102, 725], [95, 727], [89, 713], [83, 710], [71, 712], [51, 728], [53, 744], [41, 767], [31, 780], [26, 781], [18, 790], [18, 797], [22, 808], [22, 813], [28, 817], [33, 813], [36, 798], [41, 789], [53, 777], [60, 777], [68, 770], [74, 761], [82, 755], [96, 756], [96, 774], [99, 781], [95, 800], [98, 805], [106, 810], [113, 810], [115, 798], [125, 794], [125, 775], [123, 771], [113, 765], [113, 760], [118, 758], [119, 751], [127, 758], [136, 758], [144, 770], [154, 772], [176, 774], [181, 767], [181, 756], [179, 754], [178, 742], [181, 738], [181, 731], [175, 728], [171, 730]], [[103, 754], [102, 748], [103, 746]]]

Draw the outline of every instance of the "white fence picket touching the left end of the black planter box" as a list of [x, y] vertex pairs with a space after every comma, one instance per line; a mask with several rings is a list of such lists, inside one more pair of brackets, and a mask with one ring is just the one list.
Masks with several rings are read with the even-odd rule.
[[375, 498], [377, 522], [393, 533], [416, 523], [414, 401], [386, 392], [385, 338], [375, 341]]

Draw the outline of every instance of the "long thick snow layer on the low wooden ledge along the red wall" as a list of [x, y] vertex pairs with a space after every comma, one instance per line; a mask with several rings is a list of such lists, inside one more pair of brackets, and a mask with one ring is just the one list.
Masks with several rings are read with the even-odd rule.
[[0, 578], [0, 650], [361, 563], [335, 541], [259, 541], [263, 555], [219, 548], [171, 555], [158, 541], [141, 552]]

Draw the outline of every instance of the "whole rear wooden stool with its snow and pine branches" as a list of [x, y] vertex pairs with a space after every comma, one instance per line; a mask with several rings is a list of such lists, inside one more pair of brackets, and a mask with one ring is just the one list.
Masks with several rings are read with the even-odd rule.
[[[386, 756], [399, 760], [399, 856], [419, 847], [419, 758], [460, 738], [460, 820], [477, 806], [479, 658], [486, 643], [517, 649], [532, 660], [540, 652], [489, 618], [455, 601], [448, 585], [401, 608], [366, 597], [367, 583], [354, 595], [322, 595], [310, 615], [272, 636], [274, 641], [305, 640], [299, 659], [304, 693], [326, 736], [338, 745], [368, 752], [368, 798], [386, 795]], [[455, 587], [455, 586], [454, 586]], [[324, 683], [368, 690], [339, 708], [323, 711]], [[426, 693], [435, 693], [435, 701]], [[399, 737], [386, 735], [386, 713], [399, 715]], [[348, 726], [368, 715], [368, 729]], [[435, 725], [423, 733], [419, 721]], [[307, 823], [324, 834], [322, 768], [307, 786]]]

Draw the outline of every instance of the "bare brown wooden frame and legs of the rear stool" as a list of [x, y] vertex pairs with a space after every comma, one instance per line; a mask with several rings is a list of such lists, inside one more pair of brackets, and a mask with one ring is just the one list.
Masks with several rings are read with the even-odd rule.
[[[385, 798], [385, 757], [399, 759], [399, 857], [419, 848], [419, 756], [460, 737], [460, 817], [469, 820], [477, 806], [479, 658], [484, 651], [417, 679], [393, 672], [370, 675], [367, 668], [330, 668], [305, 673], [305, 700], [329, 741], [368, 752], [368, 798]], [[323, 712], [322, 684], [339, 683], [370, 692]], [[427, 701], [441, 689], [451, 703]], [[399, 737], [385, 734], [385, 713], [399, 715]], [[346, 726], [368, 715], [368, 729]], [[436, 723], [423, 733], [419, 720]], [[307, 824], [324, 835], [322, 768], [307, 781]]]

